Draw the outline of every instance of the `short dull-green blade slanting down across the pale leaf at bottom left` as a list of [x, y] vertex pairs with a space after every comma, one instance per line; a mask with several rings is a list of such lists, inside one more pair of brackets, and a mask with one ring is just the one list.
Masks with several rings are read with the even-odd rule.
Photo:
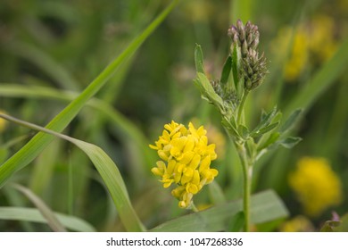
[[19, 184], [11, 184], [12, 187], [20, 191], [24, 196], [27, 196], [29, 200], [35, 204], [38, 211], [46, 219], [48, 226], [56, 232], [65, 232], [66, 229], [62, 226], [61, 222], [55, 217], [54, 212], [42, 201], [37, 195], [35, 195], [27, 187], [23, 187]]

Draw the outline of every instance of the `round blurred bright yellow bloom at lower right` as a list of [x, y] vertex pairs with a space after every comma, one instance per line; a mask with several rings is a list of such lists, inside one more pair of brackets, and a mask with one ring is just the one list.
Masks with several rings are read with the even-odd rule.
[[304, 211], [318, 216], [342, 201], [341, 181], [324, 158], [303, 157], [289, 177]]

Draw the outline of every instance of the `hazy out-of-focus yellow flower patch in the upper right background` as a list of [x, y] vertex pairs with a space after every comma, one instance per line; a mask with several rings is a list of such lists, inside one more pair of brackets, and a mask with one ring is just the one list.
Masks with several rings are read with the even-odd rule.
[[[272, 43], [272, 51], [281, 58], [287, 58], [284, 66], [286, 81], [298, 79], [302, 72], [314, 63], [323, 63], [335, 53], [334, 20], [327, 15], [317, 15], [311, 21], [302, 23], [297, 29], [280, 29]], [[289, 54], [285, 54], [285, 53]]]

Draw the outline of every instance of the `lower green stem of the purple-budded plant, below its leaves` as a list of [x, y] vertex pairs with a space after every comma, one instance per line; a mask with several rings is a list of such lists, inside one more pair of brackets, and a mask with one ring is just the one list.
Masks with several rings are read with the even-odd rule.
[[244, 177], [244, 194], [243, 194], [243, 210], [244, 210], [244, 231], [250, 231], [250, 196], [252, 193], [252, 177], [253, 165], [248, 161], [246, 149], [243, 144], [235, 143], [239, 159], [242, 163], [243, 177]]

